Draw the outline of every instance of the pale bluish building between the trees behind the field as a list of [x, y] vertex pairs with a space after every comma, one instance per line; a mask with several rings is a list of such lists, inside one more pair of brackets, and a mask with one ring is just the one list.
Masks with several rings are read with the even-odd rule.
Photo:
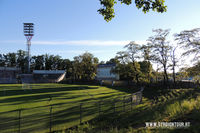
[[97, 80], [119, 80], [119, 74], [113, 73], [112, 70], [116, 64], [100, 64], [97, 67]]

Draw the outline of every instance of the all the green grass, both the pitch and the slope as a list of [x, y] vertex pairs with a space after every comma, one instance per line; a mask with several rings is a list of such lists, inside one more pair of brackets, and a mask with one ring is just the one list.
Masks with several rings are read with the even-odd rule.
[[[21, 84], [0, 85], [0, 133], [9, 132], [196, 132], [200, 131], [200, 89], [145, 88], [143, 101], [117, 108], [114, 99], [138, 91], [88, 85]], [[104, 101], [99, 116], [97, 101]], [[80, 104], [82, 122], [80, 123]], [[119, 103], [117, 106], [123, 106]], [[52, 107], [52, 108], [51, 108]], [[20, 113], [20, 109], [21, 113]], [[52, 112], [52, 113], [50, 113]], [[20, 114], [20, 116], [19, 116]], [[51, 114], [51, 115], [50, 115]], [[20, 118], [20, 121], [19, 121]], [[187, 129], [146, 129], [145, 122], [191, 122]], [[20, 128], [19, 128], [20, 125]], [[76, 127], [76, 128], [71, 128]], [[68, 129], [70, 128], [70, 129]]]

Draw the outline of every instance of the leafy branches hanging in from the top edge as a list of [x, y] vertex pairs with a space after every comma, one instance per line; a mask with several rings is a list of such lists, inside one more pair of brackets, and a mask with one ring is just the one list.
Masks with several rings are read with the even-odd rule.
[[[114, 5], [119, 1], [121, 4], [131, 5], [132, 0], [99, 0], [103, 6], [98, 12], [108, 22], [115, 16]], [[144, 13], [150, 10], [157, 11], [160, 13], [166, 12], [167, 6], [164, 5], [164, 0], [135, 0], [135, 5], [138, 9], [142, 9]]]

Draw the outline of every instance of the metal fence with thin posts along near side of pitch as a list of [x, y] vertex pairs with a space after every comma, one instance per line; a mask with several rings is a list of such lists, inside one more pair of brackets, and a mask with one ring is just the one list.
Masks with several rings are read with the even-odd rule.
[[84, 123], [99, 115], [131, 111], [142, 101], [142, 91], [112, 100], [49, 104], [0, 113], [1, 133], [53, 132]]

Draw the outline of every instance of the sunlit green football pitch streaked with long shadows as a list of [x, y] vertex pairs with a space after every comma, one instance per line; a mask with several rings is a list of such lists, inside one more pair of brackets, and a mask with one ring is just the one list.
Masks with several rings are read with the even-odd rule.
[[[99, 101], [112, 101], [127, 94], [102, 86], [1, 84], [0, 132], [70, 128], [80, 123], [80, 117], [85, 122], [99, 115]], [[109, 111], [111, 107], [112, 102], [107, 102], [101, 110]]]

